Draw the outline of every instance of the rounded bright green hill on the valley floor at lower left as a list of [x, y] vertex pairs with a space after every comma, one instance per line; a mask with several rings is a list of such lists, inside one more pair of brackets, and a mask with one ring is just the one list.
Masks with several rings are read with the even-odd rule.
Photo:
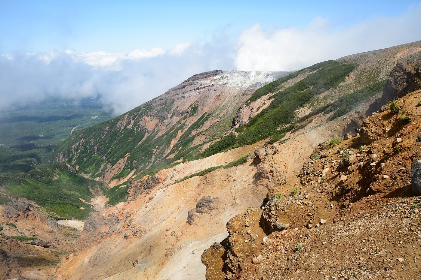
[[[74, 174], [70, 164], [49, 164], [40, 166], [24, 175], [2, 175], [4, 188], [14, 195], [21, 195], [35, 201], [53, 216], [64, 219], [88, 218], [92, 206], [80, 200], [90, 201], [90, 188], [105, 191], [102, 182]], [[83, 209], [82, 209], [83, 208]]]

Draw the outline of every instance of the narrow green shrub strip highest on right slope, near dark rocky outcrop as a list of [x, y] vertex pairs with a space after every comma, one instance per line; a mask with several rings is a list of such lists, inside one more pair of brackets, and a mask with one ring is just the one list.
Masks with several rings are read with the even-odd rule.
[[377, 92], [381, 92], [386, 85], [386, 80], [381, 82], [375, 82], [371, 85], [368, 85], [361, 90], [354, 91], [348, 95], [341, 96], [331, 104], [329, 111], [335, 111], [327, 119], [328, 122], [349, 113], [353, 109], [357, 108], [363, 100], [375, 95]]

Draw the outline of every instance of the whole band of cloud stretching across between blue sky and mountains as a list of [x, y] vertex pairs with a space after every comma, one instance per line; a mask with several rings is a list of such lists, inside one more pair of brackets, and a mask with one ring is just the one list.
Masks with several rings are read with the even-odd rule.
[[204, 71], [296, 70], [420, 40], [419, 18], [421, 5], [399, 17], [376, 18], [339, 31], [328, 19], [314, 18], [305, 29], [265, 30], [256, 24], [243, 30], [238, 40], [221, 29], [207, 42], [180, 42], [170, 50], [2, 54], [0, 111], [46, 95], [98, 95], [104, 108], [123, 114]]

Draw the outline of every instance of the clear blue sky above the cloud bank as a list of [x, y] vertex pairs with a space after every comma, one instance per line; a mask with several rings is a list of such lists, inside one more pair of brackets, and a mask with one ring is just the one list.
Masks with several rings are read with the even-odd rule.
[[[342, 2], [342, 3], [340, 3]], [[315, 17], [333, 30], [397, 16], [417, 1], [0, 1], [0, 53], [122, 52], [209, 40], [224, 29], [305, 28]]]

